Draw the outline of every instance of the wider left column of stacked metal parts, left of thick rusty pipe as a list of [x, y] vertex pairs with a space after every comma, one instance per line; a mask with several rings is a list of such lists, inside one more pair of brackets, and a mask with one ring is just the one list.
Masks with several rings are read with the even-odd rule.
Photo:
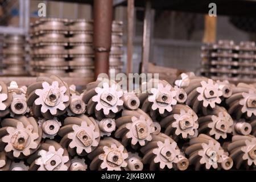
[[67, 19], [42, 18], [31, 24], [31, 75], [67, 76], [67, 35]]

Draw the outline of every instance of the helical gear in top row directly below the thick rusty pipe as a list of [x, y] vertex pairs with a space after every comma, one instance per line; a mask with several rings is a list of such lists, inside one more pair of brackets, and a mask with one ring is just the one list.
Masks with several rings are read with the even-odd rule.
[[97, 80], [87, 85], [82, 94], [82, 100], [87, 104], [86, 112], [95, 114], [98, 120], [114, 118], [123, 106], [123, 91], [111, 80]]

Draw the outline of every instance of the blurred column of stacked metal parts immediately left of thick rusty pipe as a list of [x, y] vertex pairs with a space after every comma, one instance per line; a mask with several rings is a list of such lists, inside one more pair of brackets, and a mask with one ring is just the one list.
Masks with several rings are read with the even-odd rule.
[[92, 77], [94, 74], [93, 22], [71, 20], [69, 27], [69, 72], [71, 77]]

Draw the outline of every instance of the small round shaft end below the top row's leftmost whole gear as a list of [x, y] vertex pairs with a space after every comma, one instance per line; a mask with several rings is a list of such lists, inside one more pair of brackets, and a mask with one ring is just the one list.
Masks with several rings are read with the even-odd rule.
[[42, 138], [53, 139], [61, 126], [61, 122], [56, 117], [52, 119], [39, 119], [38, 125], [43, 130]]

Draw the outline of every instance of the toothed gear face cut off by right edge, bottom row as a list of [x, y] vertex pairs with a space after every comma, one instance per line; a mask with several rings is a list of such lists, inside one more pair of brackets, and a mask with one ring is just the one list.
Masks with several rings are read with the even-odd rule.
[[[256, 165], [256, 139], [253, 138], [250, 140], [245, 140], [246, 146], [243, 146], [241, 150], [245, 152], [242, 159], [247, 160], [248, 166], [251, 166], [253, 163]], [[250, 154], [251, 153], [251, 154]]]

